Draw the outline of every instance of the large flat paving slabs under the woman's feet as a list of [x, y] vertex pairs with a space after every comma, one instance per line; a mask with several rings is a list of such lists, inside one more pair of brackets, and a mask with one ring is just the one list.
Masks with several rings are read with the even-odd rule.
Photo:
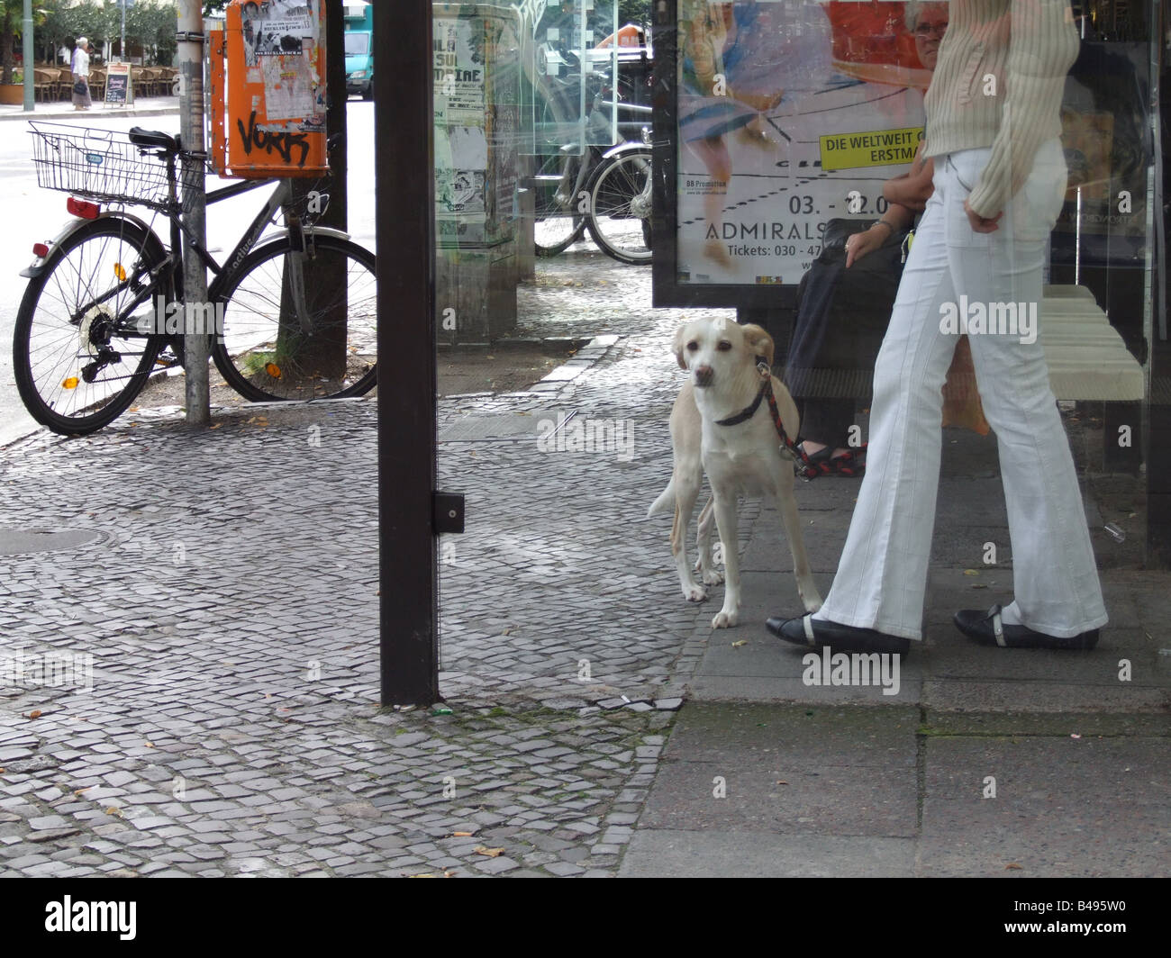
[[[1098, 646], [968, 642], [952, 611], [1011, 600], [1007, 522], [994, 439], [945, 436], [925, 641], [898, 671], [855, 673], [871, 684], [822, 684], [762, 628], [800, 605], [779, 519], [760, 514], [742, 624], [708, 635], [621, 875], [1171, 874], [1166, 574], [1109, 568], [1089, 500], [1111, 615]], [[824, 593], [857, 486], [817, 483], [799, 497]]]

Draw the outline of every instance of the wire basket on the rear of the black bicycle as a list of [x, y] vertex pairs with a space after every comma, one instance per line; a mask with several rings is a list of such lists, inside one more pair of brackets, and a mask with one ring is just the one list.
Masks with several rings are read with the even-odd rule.
[[[128, 134], [57, 123], [30, 122], [29, 126], [39, 186], [104, 203], [159, 211], [171, 207], [166, 162], [141, 155]], [[204, 166], [177, 165], [178, 203], [190, 212], [193, 187], [203, 184]]]

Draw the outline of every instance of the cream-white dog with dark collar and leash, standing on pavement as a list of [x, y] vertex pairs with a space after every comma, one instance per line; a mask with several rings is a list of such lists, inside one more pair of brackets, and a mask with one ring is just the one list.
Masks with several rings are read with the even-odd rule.
[[[705, 583], [721, 576], [713, 568], [711, 520], [714, 502], [727, 570], [724, 607], [712, 618], [713, 629], [737, 624], [740, 613], [740, 562], [737, 550], [737, 507], [740, 495], [769, 495], [778, 505], [793, 553], [797, 594], [806, 611], [821, 608], [809, 556], [801, 538], [796, 500], [793, 498], [792, 453], [782, 451], [780, 436], [765, 395], [771, 382], [776, 408], [789, 440], [797, 433], [797, 410], [793, 397], [768, 368], [773, 340], [759, 326], [739, 326], [725, 320], [697, 320], [674, 335], [674, 355], [691, 375], [671, 410], [671, 446], [674, 467], [671, 481], [651, 505], [648, 515], [674, 506], [671, 553], [679, 572], [683, 595], [690, 602], [707, 597], [696, 582], [687, 561], [686, 533], [699, 488], [707, 473], [710, 501], [699, 516], [696, 563]], [[758, 369], [758, 363], [763, 367]], [[725, 420], [721, 423], [721, 420]]]

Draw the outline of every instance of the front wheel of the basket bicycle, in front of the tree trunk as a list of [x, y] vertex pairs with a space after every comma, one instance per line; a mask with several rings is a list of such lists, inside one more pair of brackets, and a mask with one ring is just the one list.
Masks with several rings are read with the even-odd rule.
[[[377, 381], [374, 254], [335, 237], [315, 237], [311, 247], [299, 253], [288, 238], [261, 246], [213, 296], [222, 313], [212, 357], [246, 399], [340, 399]], [[294, 302], [297, 268], [303, 310]]]

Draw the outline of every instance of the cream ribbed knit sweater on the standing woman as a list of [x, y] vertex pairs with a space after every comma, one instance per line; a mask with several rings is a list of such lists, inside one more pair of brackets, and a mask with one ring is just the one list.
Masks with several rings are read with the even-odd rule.
[[991, 146], [968, 206], [994, 217], [1061, 134], [1078, 39], [1069, 0], [952, 0], [926, 96], [927, 156]]

